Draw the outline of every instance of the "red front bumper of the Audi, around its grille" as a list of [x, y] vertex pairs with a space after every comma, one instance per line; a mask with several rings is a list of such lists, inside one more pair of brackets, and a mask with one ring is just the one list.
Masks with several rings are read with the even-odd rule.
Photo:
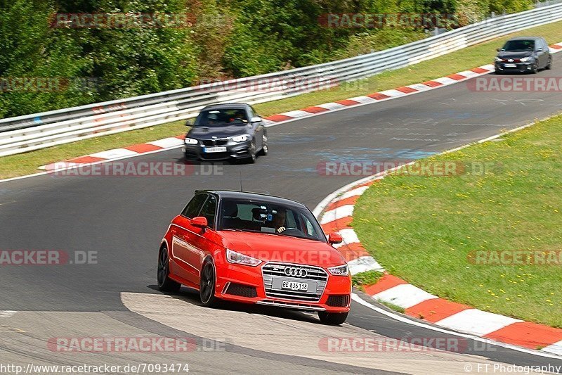
[[[326, 269], [325, 287], [320, 299], [278, 298], [266, 290], [262, 268], [222, 263], [216, 265], [216, 297], [241, 303], [257, 303], [279, 307], [326, 312], [348, 312], [351, 303], [351, 276], [334, 276]], [[311, 266], [308, 266], [311, 267]], [[268, 295], [269, 293], [269, 295]]]

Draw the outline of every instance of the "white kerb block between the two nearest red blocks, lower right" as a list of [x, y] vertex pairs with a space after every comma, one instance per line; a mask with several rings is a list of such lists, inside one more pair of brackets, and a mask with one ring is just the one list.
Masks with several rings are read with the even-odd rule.
[[518, 322], [523, 322], [523, 320], [493, 314], [492, 312], [469, 309], [452, 314], [450, 317], [436, 322], [436, 324], [476, 336], [485, 336], [488, 333]]

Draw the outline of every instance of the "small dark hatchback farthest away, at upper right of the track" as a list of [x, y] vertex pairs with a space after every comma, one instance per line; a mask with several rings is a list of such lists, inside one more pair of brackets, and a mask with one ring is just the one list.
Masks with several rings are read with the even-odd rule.
[[502, 72], [531, 72], [552, 68], [549, 44], [541, 37], [517, 37], [509, 39], [497, 50], [495, 70]]

